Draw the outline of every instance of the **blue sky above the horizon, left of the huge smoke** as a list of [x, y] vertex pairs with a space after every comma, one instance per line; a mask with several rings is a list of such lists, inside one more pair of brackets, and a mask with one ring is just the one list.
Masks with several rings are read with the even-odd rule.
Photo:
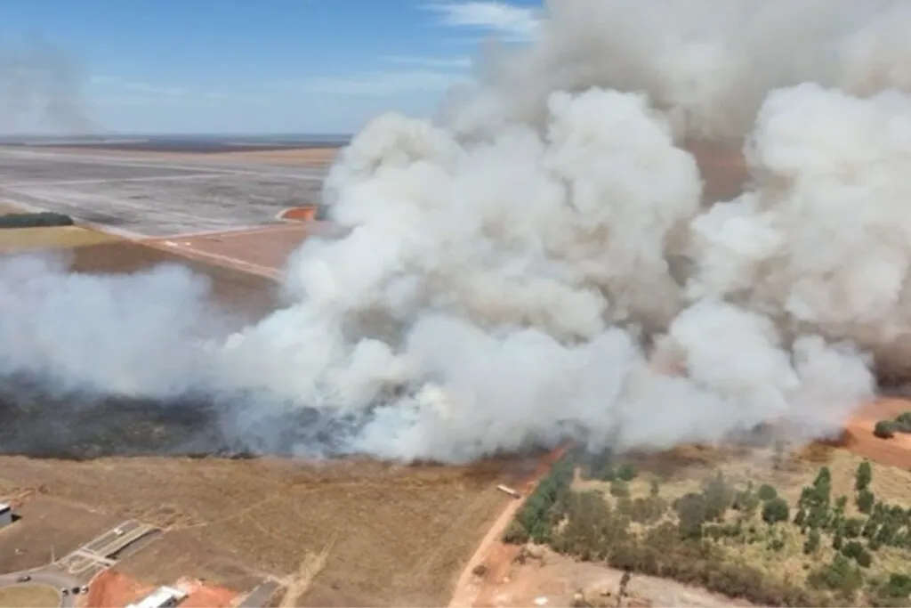
[[103, 129], [348, 133], [384, 109], [431, 115], [478, 43], [527, 39], [540, 4], [7, 0], [0, 42], [65, 49]]

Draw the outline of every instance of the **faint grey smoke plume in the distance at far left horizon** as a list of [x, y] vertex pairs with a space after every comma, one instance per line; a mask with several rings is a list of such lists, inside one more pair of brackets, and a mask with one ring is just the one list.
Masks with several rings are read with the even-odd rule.
[[82, 98], [85, 75], [67, 53], [45, 40], [0, 40], [0, 133], [95, 130]]

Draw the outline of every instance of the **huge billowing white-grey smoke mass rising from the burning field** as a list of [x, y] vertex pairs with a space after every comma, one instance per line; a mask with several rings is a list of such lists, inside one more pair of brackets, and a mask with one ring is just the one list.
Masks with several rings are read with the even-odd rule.
[[[14, 288], [17, 262], [0, 362], [203, 396], [211, 440], [253, 451], [824, 436], [874, 367], [908, 371], [908, 27], [875, 0], [548, 3], [443, 119], [387, 114], [343, 150], [324, 202], [349, 232], [293, 254], [286, 308], [225, 337], [181, 271]], [[743, 147], [742, 196], [702, 201], [691, 139]]]

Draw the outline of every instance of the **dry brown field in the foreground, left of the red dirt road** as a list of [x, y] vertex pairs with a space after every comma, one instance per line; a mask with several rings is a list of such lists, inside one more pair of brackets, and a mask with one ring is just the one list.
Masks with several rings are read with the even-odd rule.
[[241, 592], [326, 551], [301, 605], [443, 605], [509, 500], [495, 489], [511, 479], [505, 467], [0, 457], [5, 493], [24, 497], [23, 520], [0, 533], [0, 566], [39, 565], [51, 546], [59, 554], [137, 518], [165, 529], [118, 564], [146, 584], [191, 576]]

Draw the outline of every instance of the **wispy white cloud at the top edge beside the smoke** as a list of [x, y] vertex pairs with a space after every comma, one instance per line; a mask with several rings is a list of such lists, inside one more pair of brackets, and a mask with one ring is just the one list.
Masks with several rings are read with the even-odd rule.
[[439, 15], [445, 26], [472, 27], [518, 40], [534, 36], [540, 23], [535, 9], [507, 2], [431, 2], [423, 8]]

